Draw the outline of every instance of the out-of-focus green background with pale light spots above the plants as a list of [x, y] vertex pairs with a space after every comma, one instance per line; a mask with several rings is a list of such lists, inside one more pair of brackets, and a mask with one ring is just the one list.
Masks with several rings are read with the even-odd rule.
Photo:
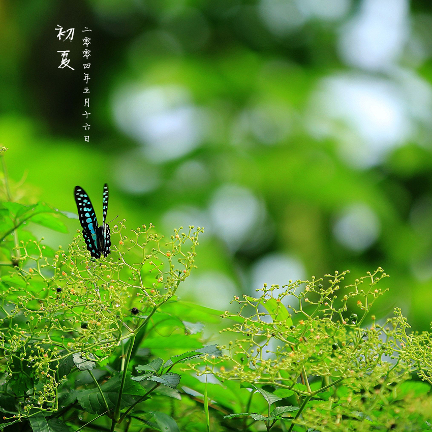
[[[426, 329], [431, 55], [426, 1], [3, 0], [0, 143], [24, 200], [76, 211], [79, 184], [101, 214], [108, 182], [108, 219], [204, 226], [185, 297], [225, 310], [264, 282], [382, 266], [377, 315]], [[69, 226], [34, 230], [66, 246]]]

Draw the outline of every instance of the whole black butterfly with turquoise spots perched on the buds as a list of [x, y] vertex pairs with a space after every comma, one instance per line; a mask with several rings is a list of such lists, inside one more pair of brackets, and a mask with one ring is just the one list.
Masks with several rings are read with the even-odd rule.
[[90, 198], [80, 186], [75, 186], [75, 202], [77, 203], [79, 222], [87, 250], [93, 258], [101, 258], [101, 254], [107, 257], [111, 246], [109, 225], [105, 223], [108, 210], [108, 184], [104, 184], [102, 225], [98, 225]]

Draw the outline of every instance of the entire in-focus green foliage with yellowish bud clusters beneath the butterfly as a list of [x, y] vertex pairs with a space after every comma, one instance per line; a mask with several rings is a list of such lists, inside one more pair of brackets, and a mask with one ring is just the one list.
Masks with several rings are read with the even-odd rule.
[[[4, 183], [0, 430], [430, 429], [431, 333], [410, 332], [399, 308], [371, 315], [381, 268], [342, 293], [347, 272], [264, 285], [220, 313], [177, 294], [202, 228], [167, 240], [122, 220], [107, 259], [81, 235], [53, 251], [27, 223], [63, 231], [73, 215], [16, 203]], [[203, 333], [219, 314], [232, 322], [222, 347]]]

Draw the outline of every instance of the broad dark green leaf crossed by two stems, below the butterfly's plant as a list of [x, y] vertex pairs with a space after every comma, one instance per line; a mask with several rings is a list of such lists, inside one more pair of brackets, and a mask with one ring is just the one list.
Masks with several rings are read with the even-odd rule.
[[[117, 404], [118, 392], [120, 389], [121, 375], [117, 374], [105, 384], [102, 384], [101, 390], [105, 396], [109, 409], [114, 409]], [[131, 379], [131, 373], [128, 372], [125, 381], [125, 387], [121, 395], [120, 408], [128, 407], [134, 404], [141, 396], [145, 394], [145, 389], [140, 384]], [[106, 411], [102, 395], [97, 388], [83, 390], [77, 394], [78, 402], [84, 410], [92, 414], [102, 414]]]

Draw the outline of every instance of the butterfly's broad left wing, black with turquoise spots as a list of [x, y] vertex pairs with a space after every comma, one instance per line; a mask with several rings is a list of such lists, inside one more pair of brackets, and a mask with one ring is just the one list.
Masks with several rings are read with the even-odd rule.
[[75, 187], [75, 202], [78, 209], [78, 218], [82, 227], [82, 236], [84, 237], [87, 250], [94, 258], [101, 257], [101, 251], [98, 247], [96, 230], [98, 228], [98, 220], [96, 218], [95, 209], [91, 204], [90, 198], [80, 186]]

